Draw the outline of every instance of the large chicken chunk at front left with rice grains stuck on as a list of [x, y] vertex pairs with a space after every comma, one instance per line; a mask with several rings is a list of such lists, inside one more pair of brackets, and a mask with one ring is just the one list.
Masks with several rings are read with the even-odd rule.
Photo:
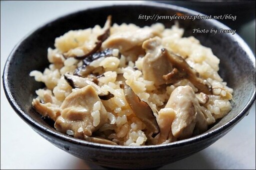
[[[93, 105], [96, 102], [100, 102], [100, 110], [95, 111]], [[75, 138], [84, 139], [84, 135], [91, 136], [107, 122], [107, 112], [91, 85], [69, 94], [60, 108], [61, 115], [54, 126], [61, 133], [71, 132]]]

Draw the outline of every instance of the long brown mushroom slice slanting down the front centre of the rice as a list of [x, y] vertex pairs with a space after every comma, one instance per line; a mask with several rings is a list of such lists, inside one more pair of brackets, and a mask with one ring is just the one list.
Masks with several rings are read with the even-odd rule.
[[125, 99], [134, 114], [146, 125], [150, 132], [153, 132], [152, 137], [155, 137], [160, 130], [152, 109], [146, 102], [141, 101], [125, 82], [120, 84], [120, 88], [123, 89]]

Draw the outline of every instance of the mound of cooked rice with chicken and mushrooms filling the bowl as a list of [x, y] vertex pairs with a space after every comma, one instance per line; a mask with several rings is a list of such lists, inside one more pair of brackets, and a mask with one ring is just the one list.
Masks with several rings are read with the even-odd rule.
[[89, 142], [142, 146], [201, 134], [230, 110], [219, 59], [177, 24], [70, 30], [31, 71], [45, 88], [32, 106], [57, 131]]

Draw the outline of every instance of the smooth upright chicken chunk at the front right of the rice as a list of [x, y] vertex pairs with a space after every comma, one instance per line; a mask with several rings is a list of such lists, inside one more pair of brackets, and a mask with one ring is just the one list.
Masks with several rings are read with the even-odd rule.
[[186, 139], [193, 131], [202, 133], [207, 130], [207, 122], [200, 111], [200, 105], [190, 86], [179, 86], [173, 90], [165, 108], [175, 111], [175, 119], [171, 124], [174, 137]]

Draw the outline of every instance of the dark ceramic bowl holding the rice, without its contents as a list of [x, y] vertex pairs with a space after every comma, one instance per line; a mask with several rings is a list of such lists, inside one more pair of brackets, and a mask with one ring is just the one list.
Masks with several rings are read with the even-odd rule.
[[[178, 142], [158, 146], [127, 147], [90, 143], [57, 132], [31, 107], [35, 90], [43, 84], [29, 77], [32, 70], [48, 66], [47, 48], [55, 37], [71, 29], [83, 29], [95, 24], [103, 25], [111, 14], [113, 23], [135, 23], [140, 26], [156, 21], [138, 19], [143, 15], [173, 15], [176, 12], [197, 15], [197, 12], [162, 4], [113, 5], [78, 11], [53, 20], [22, 39], [10, 53], [3, 73], [6, 97], [18, 116], [43, 138], [56, 147], [88, 162], [112, 168], [154, 168], [188, 157], [224, 136], [246, 114], [255, 100], [255, 58], [236, 34], [192, 33], [193, 28], [223, 28], [215, 20], [179, 20], [184, 36], [195, 36], [202, 45], [210, 47], [220, 58], [220, 75], [233, 88], [233, 109], [205, 133]], [[174, 20], [158, 20], [170, 27]], [[49, 153], [50, 154], [50, 153]]]

